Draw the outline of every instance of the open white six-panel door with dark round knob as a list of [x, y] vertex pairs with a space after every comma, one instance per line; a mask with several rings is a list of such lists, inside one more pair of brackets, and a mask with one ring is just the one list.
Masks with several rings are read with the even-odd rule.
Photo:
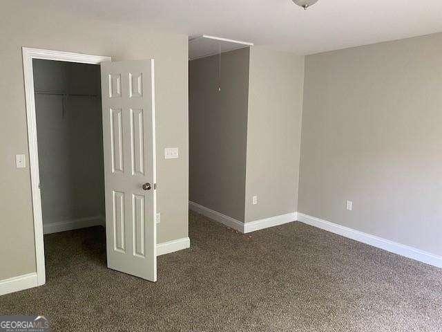
[[155, 282], [154, 62], [101, 68], [108, 268]]

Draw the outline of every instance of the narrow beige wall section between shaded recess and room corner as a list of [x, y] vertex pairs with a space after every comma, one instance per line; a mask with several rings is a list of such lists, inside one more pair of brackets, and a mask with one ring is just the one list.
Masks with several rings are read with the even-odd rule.
[[246, 222], [296, 211], [304, 57], [253, 46], [249, 75]]

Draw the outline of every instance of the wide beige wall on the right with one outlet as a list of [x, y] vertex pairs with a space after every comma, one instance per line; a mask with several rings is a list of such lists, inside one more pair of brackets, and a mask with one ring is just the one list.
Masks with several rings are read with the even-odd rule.
[[442, 34], [308, 56], [298, 211], [442, 255], [441, 124]]

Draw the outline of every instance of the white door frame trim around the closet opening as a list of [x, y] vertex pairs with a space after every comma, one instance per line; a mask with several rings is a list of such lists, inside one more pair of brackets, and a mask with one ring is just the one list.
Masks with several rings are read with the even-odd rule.
[[43, 214], [41, 212], [39, 150], [37, 145], [37, 122], [35, 120], [34, 71], [32, 68], [32, 59], [100, 64], [104, 61], [111, 61], [111, 57], [28, 47], [22, 47], [21, 50], [23, 54], [26, 118], [28, 121], [29, 166], [32, 190], [32, 215], [34, 218], [35, 260], [37, 262], [37, 286], [41, 286], [46, 284], [46, 268], [44, 262]]

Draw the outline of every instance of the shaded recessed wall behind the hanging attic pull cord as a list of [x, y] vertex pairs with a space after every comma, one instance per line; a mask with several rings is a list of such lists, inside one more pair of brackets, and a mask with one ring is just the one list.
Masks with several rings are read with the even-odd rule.
[[[190, 200], [244, 221], [249, 48], [189, 62]], [[221, 91], [218, 91], [218, 83]]]

